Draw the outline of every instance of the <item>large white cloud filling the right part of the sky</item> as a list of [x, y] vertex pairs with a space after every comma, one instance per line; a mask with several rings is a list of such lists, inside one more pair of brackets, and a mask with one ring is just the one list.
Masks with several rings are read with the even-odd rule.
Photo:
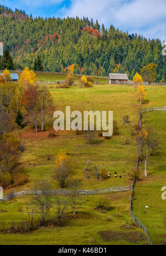
[[64, 16], [97, 19], [129, 33], [151, 38], [166, 38], [166, 0], [71, 0]]

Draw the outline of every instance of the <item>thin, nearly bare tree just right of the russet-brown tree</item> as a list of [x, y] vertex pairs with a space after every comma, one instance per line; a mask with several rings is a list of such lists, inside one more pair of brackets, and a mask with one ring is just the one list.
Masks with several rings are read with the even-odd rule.
[[40, 99], [40, 108], [41, 108], [41, 122], [42, 122], [42, 131], [44, 131], [44, 117], [46, 112], [53, 105], [53, 100], [51, 94], [46, 87], [43, 87], [39, 90], [39, 99]]

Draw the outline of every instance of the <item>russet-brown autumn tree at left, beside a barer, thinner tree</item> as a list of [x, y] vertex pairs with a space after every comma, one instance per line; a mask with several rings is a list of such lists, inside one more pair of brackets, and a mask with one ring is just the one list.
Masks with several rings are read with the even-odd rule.
[[27, 89], [25, 89], [22, 97], [22, 104], [25, 110], [27, 110], [30, 115], [34, 126], [35, 131], [38, 132], [38, 111], [39, 111], [39, 99], [40, 95], [35, 86], [29, 85]]

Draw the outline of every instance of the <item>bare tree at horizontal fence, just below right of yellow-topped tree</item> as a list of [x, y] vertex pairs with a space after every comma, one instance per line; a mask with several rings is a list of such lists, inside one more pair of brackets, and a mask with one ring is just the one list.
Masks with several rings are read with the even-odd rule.
[[68, 182], [68, 197], [69, 197], [69, 202], [70, 206], [73, 209], [73, 214], [75, 216], [75, 208], [76, 208], [76, 203], [80, 197], [79, 190], [81, 188], [81, 180], [79, 179], [72, 179]]

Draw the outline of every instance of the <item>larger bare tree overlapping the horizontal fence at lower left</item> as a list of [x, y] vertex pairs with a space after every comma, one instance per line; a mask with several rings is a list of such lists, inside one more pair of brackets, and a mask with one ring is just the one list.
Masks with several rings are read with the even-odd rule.
[[40, 181], [35, 186], [35, 191], [37, 191], [38, 194], [34, 196], [34, 199], [38, 204], [40, 220], [41, 220], [40, 223], [42, 225], [44, 224], [44, 219], [46, 218], [46, 215], [50, 211], [50, 208], [53, 207], [53, 200], [51, 198], [49, 190], [50, 190], [50, 184], [46, 181]]

